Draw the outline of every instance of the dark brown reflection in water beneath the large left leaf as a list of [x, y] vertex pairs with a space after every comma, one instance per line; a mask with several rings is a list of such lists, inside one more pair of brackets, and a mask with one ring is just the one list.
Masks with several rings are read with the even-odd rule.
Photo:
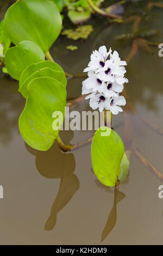
[[45, 224], [45, 230], [52, 230], [57, 222], [57, 214], [79, 189], [79, 180], [76, 174], [73, 174], [76, 167], [74, 155], [61, 153], [57, 145], [53, 145], [46, 152], [32, 149], [27, 144], [26, 148], [36, 156], [36, 167], [42, 176], [48, 179], [60, 179], [59, 191]]

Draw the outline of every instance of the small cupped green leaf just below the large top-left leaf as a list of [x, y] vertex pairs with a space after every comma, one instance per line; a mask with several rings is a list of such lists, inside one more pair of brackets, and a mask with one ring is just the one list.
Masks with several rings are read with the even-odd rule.
[[5, 65], [10, 76], [16, 80], [30, 64], [41, 62], [45, 56], [41, 48], [32, 41], [22, 41], [17, 46], [9, 48], [5, 54]]

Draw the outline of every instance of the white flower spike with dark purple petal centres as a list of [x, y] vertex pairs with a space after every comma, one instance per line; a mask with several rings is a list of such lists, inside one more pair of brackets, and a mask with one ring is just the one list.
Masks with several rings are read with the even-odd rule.
[[128, 83], [124, 77], [124, 65], [127, 63], [121, 60], [117, 51], [111, 52], [111, 48], [107, 52], [105, 46], [93, 51], [91, 61], [84, 69], [84, 72], [88, 72], [88, 78], [82, 83], [82, 94], [88, 94], [85, 100], [90, 99], [92, 109], [99, 108], [100, 112], [106, 109], [112, 114], [118, 114], [123, 111], [120, 106], [126, 105], [125, 98], [119, 93], [124, 83]]

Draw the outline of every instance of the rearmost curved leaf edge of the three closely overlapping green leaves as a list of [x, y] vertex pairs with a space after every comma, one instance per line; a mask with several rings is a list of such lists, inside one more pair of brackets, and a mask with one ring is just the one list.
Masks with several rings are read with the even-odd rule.
[[[43, 68], [49, 68], [51, 70], [57, 70], [57, 71], [61, 71], [64, 73], [64, 70], [61, 68], [61, 66], [55, 62], [51, 62], [51, 60], [44, 60], [43, 62], [34, 63], [32, 65], [27, 66], [27, 68], [24, 69], [24, 71], [22, 72], [22, 75], [21, 75], [20, 81], [19, 81], [19, 87], [22, 86], [22, 84], [28, 79], [29, 76], [34, 74], [37, 70], [40, 70]], [[62, 82], [62, 83], [66, 87], [67, 80], [66, 80], [65, 73], [64, 73], [64, 77], [62, 79], [64, 80], [64, 82]]]

